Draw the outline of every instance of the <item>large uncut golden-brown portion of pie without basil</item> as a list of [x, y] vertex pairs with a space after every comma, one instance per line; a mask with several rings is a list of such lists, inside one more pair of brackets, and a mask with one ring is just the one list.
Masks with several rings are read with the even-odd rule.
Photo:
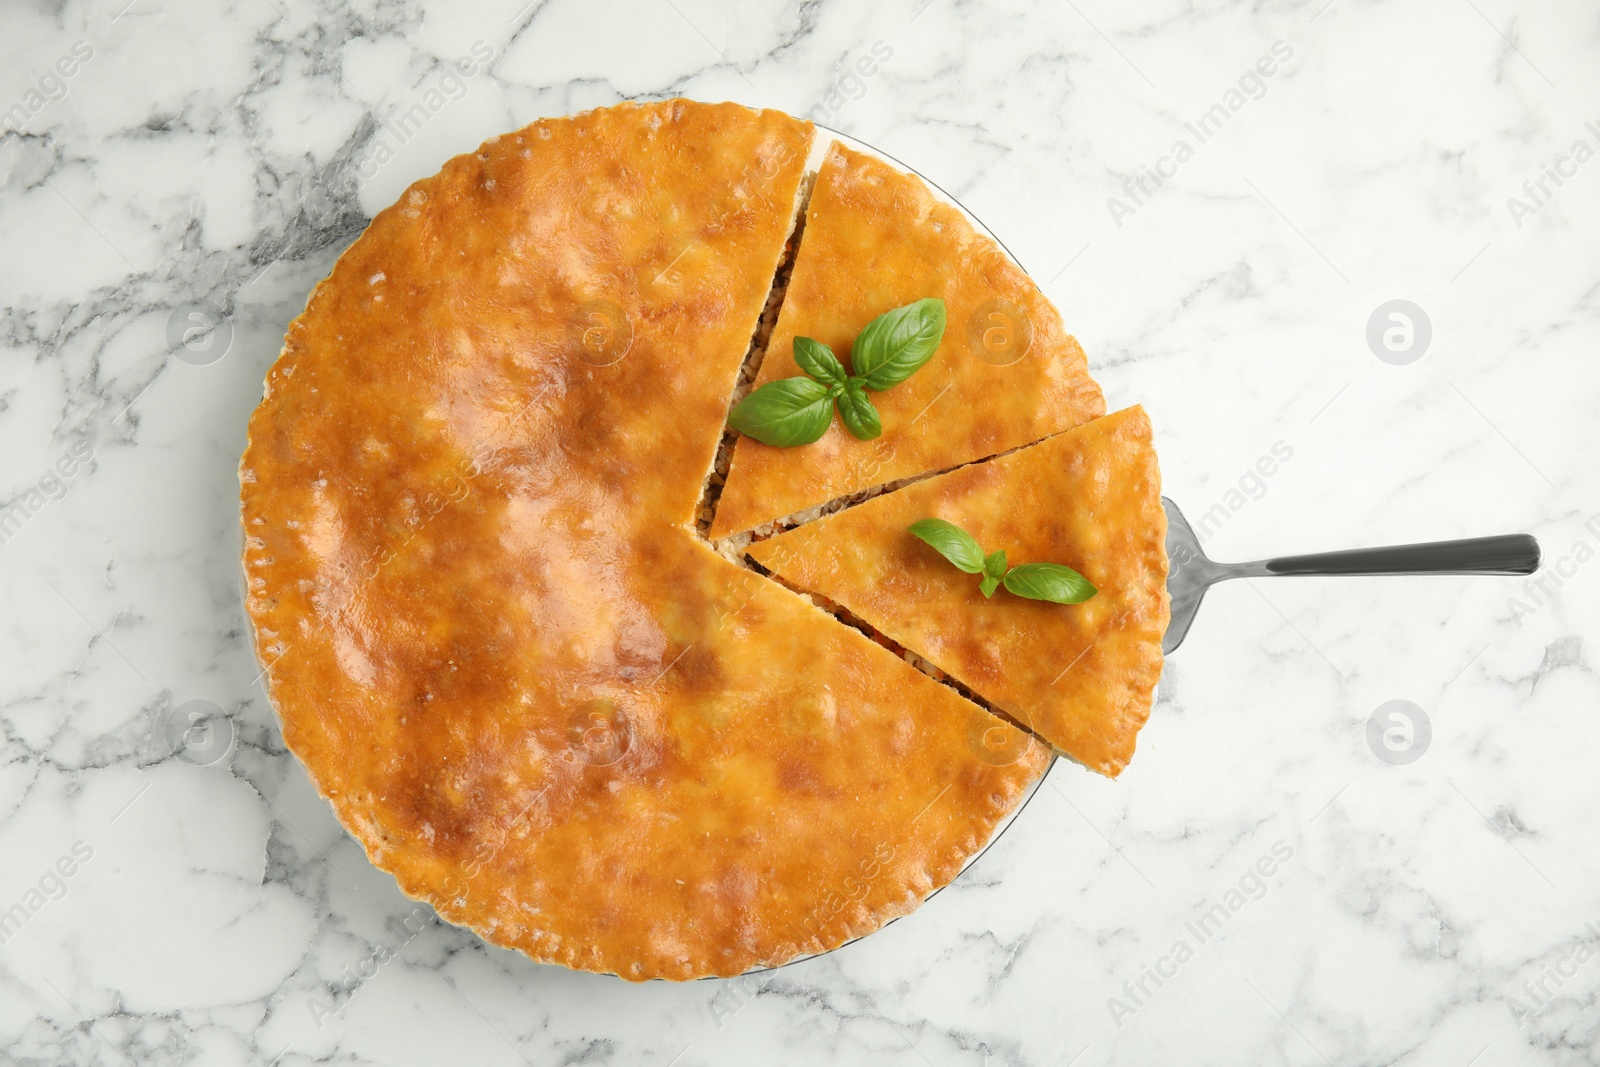
[[1048, 763], [691, 526], [810, 139], [667, 101], [451, 160], [317, 286], [250, 422], [285, 742], [408, 894], [536, 960], [838, 945]]

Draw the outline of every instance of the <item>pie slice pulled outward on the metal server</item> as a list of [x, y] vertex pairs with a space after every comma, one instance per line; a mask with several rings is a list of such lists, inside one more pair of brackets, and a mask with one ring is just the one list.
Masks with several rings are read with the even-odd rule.
[[[944, 518], [1011, 566], [1064, 563], [1080, 605], [984, 598], [907, 526]], [[752, 560], [949, 672], [1085, 766], [1115, 777], [1150, 712], [1166, 632], [1166, 514], [1142, 408], [886, 493], [752, 544]]]

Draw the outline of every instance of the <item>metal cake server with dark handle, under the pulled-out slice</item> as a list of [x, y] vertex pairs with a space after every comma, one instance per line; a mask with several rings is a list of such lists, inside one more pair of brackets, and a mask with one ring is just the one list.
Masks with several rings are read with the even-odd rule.
[[1218, 563], [1206, 558], [1200, 537], [1184, 514], [1165, 496], [1166, 509], [1166, 592], [1173, 617], [1166, 624], [1162, 651], [1184, 643], [1205, 590], [1229, 577], [1272, 577], [1277, 574], [1533, 574], [1539, 569], [1539, 542], [1531, 534], [1499, 534], [1462, 541], [1397, 544], [1384, 549], [1347, 549], [1312, 555], [1282, 555], [1253, 563]]

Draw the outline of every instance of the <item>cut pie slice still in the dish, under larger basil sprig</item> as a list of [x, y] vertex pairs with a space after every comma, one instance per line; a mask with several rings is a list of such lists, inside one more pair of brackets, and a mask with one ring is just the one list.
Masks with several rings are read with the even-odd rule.
[[842, 144], [829, 149], [757, 386], [800, 373], [797, 336], [850, 365], [861, 328], [923, 298], [946, 304], [944, 341], [907, 381], [872, 394], [883, 435], [835, 419], [822, 440], [739, 437], [710, 537], [883, 483], [1027, 445], [1106, 411], [1083, 350], [1038, 286], [922, 179]]

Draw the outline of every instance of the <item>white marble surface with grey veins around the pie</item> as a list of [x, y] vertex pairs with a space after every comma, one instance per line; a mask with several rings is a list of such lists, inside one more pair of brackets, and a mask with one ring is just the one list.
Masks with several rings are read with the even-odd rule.
[[[0, 1061], [1600, 1059], [1592, 3], [13, 0], [0, 54]], [[1544, 571], [1214, 590], [1118, 781], [1058, 765], [954, 888], [774, 974], [440, 925], [264, 702], [245, 418], [406, 182], [669, 94], [960, 197], [1213, 555], [1525, 530]], [[1426, 350], [1416, 310], [1368, 342], [1395, 299]], [[1370, 742], [1397, 699], [1426, 750]]]

